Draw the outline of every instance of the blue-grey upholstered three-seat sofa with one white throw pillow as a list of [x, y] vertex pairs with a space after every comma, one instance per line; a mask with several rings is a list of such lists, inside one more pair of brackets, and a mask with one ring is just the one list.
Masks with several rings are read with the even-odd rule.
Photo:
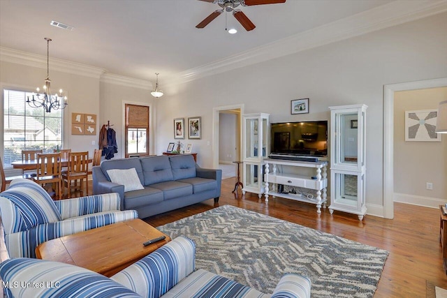
[[[126, 187], [134, 181], [124, 181], [129, 175], [126, 170], [132, 169], [141, 185], [136, 189]], [[110, 170], [123, 170], [123, 174], [115, 172], [119, 179], [112, 182]], [[93, 167], [92, 174], [95, 195], [119, 193], [121, 209], [136, 210], [140, 218], [212, 198], [218, 202], [221, 195], [222, 171], [199, 167], [190, 154], [112, 159]], [[133, 190], [126, 191], [129, 188]]]

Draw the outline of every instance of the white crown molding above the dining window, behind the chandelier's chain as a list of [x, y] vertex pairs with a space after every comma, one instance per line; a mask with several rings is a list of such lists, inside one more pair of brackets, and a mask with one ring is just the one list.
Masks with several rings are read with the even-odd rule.
[[[7, 47], [0, 47], [0, 61], [10, 62], [14, 64], [22, 64], [24, 66], [31, 66], [37, 68], [47, 68], [47, 57], [29, 52], [22, 52], [19, 50], [9, 49]], [[86, 77], [94, 77], [99, 79], [105, 69], [85, 64], [78, 64], [71, 61], [50, 58], [52, 70], [57, 70], [62, 73], [71, 73], [75, 75], [83, 75]]]

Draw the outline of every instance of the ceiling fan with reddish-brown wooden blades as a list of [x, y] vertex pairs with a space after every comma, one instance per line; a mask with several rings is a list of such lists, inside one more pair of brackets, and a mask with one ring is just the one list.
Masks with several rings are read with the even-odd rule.
[[205, 28], [207, 24], [210, 24], [212, 20], [223, 13], [225, 10], [227, 13], [233, 12], [234, 17], [242, 27], [247, 31], [251, 31], [256, 28], [256, 26], [249, 20], [247, 15], [242, 13], [240, 9], [235, 9], [237, 6], [253, 6], [253, 5], [263, 5], [263, 4], [274, 4], [274, 3], [284, 3], [286, 0], [200, 0], [210, 3], [217, 3], [221, 9], [215, 10], [214, 13], [205, 17], [205, 20], [200, 22], [196, 28], [202, 29]]

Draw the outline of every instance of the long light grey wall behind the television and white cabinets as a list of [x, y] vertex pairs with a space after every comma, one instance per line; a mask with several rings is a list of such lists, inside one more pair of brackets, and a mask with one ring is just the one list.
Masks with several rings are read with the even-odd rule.
[[[172, 119], [201, 116], [202, 140], [191, 142], [200, 165], [211, 166], [212, 108], [221, 105], [244, 103], [246, 113], [267, 112], [270, 122], [279, 122], [325, 120], [328, 106], [365, 103], [367, 204], [382, 215], [383, 85], [446, 77], [446, 27], [443, 13], [179, 85], [159, 102], [159, 115], [169, 121], [159, 118], [157, 150], [170, 142]], [[298, 98], [310, 98], [309, 114], [291, 114]]]

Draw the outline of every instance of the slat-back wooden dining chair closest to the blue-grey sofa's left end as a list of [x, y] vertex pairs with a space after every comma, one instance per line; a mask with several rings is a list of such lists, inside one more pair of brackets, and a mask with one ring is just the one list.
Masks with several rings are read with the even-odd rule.
[[[89, 166], [89, 152], [70, 152], [68, 154], [68, 170], [62, 173], [62, 180], [64, 187], [68, 190], [68, 198], [71, 198], [71, 190], [78, 187], [78, 180], [80, 181], [79, 187], [81, 196], [84, 196], [84, 189], [82, 188], [82, 182], [85, 180], [85, 191], [89, 195], [89, 179], [88, 178], [88, 166]], [[75, 181], [72, 185], [72, 181]]]

